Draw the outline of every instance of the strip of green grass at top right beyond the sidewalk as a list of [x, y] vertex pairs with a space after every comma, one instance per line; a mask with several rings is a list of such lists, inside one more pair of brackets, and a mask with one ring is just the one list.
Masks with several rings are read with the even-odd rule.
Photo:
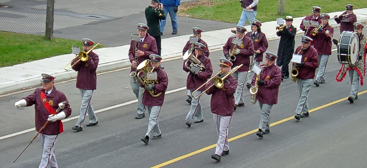
[[[197, 6], [182, 13], [188, 17], [198, 19], [238, 23], [242, 12], [239, 0], [212, 1], [215, 3], [215, 6]], [[366, 0], [285, 0], [285, 14], [278, 15], [278, 0], [259, 0], [256, 19], [266, 22], [276, 20], [279, 17], [285, 18], [287, 15], [291, 15], [294, 18], [306, 16], [312, 13], [312, 6], [321, 7], [321, 13], [345, 11], [344, 6], [346, 4], [353, 4], [354, 9], [367, 8]]]

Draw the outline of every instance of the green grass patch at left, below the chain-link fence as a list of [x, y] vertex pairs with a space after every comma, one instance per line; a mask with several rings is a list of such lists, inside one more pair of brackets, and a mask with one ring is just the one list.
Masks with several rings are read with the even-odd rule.
[[44, 36], [0, 32], [0, 67], [71, 53], [71, 46], [83, 49], [82, 41], [60, 38], [49, 41]]

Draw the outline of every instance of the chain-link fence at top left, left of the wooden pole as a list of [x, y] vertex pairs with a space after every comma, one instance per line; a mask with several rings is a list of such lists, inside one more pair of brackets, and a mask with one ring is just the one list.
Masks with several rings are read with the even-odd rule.
[[44, 35], [47, 0], [0, 0], [0, 31]]

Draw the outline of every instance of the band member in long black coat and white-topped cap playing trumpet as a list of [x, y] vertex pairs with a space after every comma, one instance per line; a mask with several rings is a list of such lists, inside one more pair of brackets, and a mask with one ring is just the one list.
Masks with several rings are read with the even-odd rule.
[[281, 67], [282, 81], [283, 79], [289, 78], [289, 63], [291, 62], [294, 53], [297, 29], [292, 25], [292, 23], [293, 17], [286, 16], [286, 27], [283, 28], [283, 31], [278, 31], [276, 33], [277, 36], [280, 37], [276, 65]]

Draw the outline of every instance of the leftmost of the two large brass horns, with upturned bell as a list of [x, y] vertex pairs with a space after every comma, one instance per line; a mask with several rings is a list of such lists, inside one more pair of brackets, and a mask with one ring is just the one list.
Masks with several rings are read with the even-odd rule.
[[[137, 70], [139, 70], [138, 74], [136, 75], [138, 77], [138, 79], [140, 80], [141, 83], [143, 83], [144, 87], [148, 87], [149, 84], [152, 84], [152, 85], [155, 85], [155, 84], [158, 84], [158, 80], [148, 80], [148, 77], [147, 75], [151, 72], [153, 72], [153, 69], [154, 67], [150, 70], [149, 68], [149, 60], [145, 60], [143, 61], [142, 63], [140, 63], [137, 67]], [[140, 76], [140, 73], [144, 73], [144, 75]], [[148, 90], [147, 90], [148, 91]], [[153, 90], [151, 91], [148, 91], [149, 94], [153, 97], [158, 97], [158, 96], [161, 96], [162, 92], [161, 93], [154, 93]]]

